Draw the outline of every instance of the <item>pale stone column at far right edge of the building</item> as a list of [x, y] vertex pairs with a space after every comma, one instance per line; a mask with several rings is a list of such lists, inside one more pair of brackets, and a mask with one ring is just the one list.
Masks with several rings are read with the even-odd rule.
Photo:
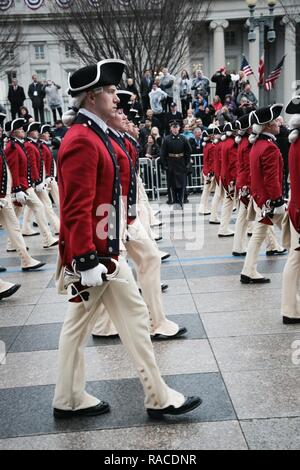
[[296, 93], [296, 28], [288, 16], [282, 18], [285, 25], [284, 53], [284, 103]]

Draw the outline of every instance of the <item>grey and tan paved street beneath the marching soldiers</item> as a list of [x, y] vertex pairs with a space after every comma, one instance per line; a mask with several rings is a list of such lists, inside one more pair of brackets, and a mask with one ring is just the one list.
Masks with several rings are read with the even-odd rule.
[[218, 239], [208, 218], [203, 247], [201, 240], [198, 249], [187, 241], [198, 225], [198, 200], [192, 197], [186, 206], [184, 238], [180, 218], [161, 205], [166, 224], [159, 246], [172, 255], [162, 267], [169, 285], [164, 305], [188, 334], [154, 341], [154, 349], [167, 383], [200, 395], [203, 404], [159, 423], [144, 411], [142, 387], [120, 341], [93, 338], [86, 348], [88, 390], [109, 401], [111, 413], [54, 420], [58, 340], [67, 309], [53, 280], [56, 249], [43, 250], [39, 237], [27, 239], [47, 266], [21, 273], [0, 231], [0, 264], [8, 268], [2, 277], [22, 284], [0, 303], [0, 340], [7, 351], [0, 366], [0, 449], [300, 448], [300, 325], [284, 326], [280, 316], [286, 256], [267, 258], [262, 251], [258, 269], [271, 284], [241, 285], [243, 261], [231, 256], [233, 240]]

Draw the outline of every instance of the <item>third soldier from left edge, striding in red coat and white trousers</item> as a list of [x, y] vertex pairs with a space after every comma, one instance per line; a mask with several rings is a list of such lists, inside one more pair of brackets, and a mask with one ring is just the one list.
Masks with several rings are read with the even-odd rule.
[[[51, 200], [48, 194], [48, 184], [46, 182], [46, 165], [44, 160], [45, 152], [42, 152], [38, 141], [40, 131], [39, 122], [31, 122], [27, 127], [27, 139], [25, 141], [25, 149], [32, 162], [35, 162], [36, 168], [36, 181], [35, 181], [35, 192], [40, 201], [42, 202], [46, 214], [46, 218], [50, 223], [55, 235], [59, 234], [59, 218], [55, 214]], [[34, 165], [32, 166], [34, 167]], [[24, 223], [23, 230], [28, 233], [31, 229], [32, 211], [29, 207], [25, 208], [24, 211]]]

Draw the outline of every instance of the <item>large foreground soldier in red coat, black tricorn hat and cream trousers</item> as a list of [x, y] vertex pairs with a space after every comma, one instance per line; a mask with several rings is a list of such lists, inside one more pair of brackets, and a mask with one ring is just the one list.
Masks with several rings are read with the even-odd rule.
[[61, 267], [57, 280], [68, 290], [69, 309], [59, 342], [53, 400], [57, 419], [110, 410], [108, 403], [87, 393], [85, 380], [84, 346], [102, 303], [137, 368], [148, 415], [160, 419], [201, 404], [200, 398], [184, 397], [163, 381], [146, 304], [124, 252], [120, 253], [120, 175], [106, 122], [117, 111], [116, 86], [124, 69], [124, 61], [106, 59], [69, 76], [73, 99], [64, 122], [71, 128], [58, 154]]

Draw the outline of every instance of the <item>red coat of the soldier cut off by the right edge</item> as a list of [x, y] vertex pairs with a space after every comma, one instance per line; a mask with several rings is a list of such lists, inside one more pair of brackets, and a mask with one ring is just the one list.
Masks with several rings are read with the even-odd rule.
[[290, 147], [289, 170], [291, 180], [291, 200], [289, 215], [296, 232], [300, 233], [300, 138]]

